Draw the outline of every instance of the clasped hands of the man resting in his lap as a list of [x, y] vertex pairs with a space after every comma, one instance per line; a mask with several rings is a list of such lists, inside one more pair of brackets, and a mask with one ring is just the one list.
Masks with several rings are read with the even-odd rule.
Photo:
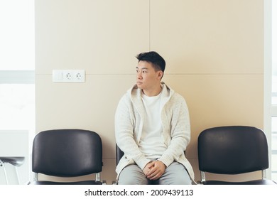
[[143, 168], [143, 173], [146, 174], [146, 178], [149, 180], [157, 180], [165, 173], [165, 168], [166, 166], [163, 162], [153, 161], [146, 164], [145, 168]]

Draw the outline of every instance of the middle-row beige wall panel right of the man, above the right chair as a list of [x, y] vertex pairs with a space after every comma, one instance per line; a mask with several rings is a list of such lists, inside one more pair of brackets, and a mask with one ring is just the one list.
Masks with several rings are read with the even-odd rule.
[[197, 158], [200, 131], [216, 126], [263, 127], [263, 75], [165, 75], [185, 97], [192, 137], [187, 156]]

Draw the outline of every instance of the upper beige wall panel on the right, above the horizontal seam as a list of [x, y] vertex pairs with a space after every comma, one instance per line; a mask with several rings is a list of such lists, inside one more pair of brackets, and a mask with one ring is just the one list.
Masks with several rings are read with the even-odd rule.
[[261, 0], [151, 0], [150, 42], [169, 73], [262, 73]]

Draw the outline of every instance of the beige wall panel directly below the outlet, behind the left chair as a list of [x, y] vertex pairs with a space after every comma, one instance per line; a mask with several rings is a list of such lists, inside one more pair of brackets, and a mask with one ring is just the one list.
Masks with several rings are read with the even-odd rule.
[[114, 158], [114, 112], [135, 76], [87, 75], [86, 79], [85, 83], [53, 83], [51, 75], [37, 75], [36, 131], [96, 131], [102, 137], [103, 158]]

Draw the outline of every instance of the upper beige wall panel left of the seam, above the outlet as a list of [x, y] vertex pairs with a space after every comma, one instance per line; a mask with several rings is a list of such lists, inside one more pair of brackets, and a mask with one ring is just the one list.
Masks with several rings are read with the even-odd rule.
[[36, 73], [130, 74], [149, 50], [147, 0], [36, 1]]

